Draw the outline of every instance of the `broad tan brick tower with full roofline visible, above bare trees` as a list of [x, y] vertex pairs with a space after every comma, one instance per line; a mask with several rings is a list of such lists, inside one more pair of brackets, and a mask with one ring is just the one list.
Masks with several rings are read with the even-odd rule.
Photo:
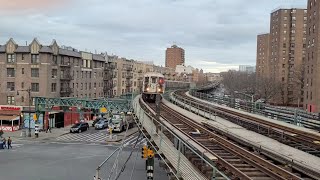
[[306, 9], [279, 9], [271, 13], [268, 68], [270, 77], [280, 86], [273, 103], [297, 105], [303, 100], [306, 22]]

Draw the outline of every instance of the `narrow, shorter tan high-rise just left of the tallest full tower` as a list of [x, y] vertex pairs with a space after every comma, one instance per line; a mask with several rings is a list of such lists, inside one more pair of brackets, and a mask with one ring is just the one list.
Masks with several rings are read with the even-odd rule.
[[269, 77], [269, 33], [257, 36], [257, 59], [256, 74], [257, 78]]

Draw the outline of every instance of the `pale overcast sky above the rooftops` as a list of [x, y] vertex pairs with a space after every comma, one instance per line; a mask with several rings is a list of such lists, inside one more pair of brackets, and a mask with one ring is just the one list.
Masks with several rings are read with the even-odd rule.
[[107, 52], [164, 65], [165, 49], [185, 49], [205, 72], [255, 64], [256, 36], [276, 8], [307, 0], [0, 0], [0, 44], [37, 37], [48, 45]]

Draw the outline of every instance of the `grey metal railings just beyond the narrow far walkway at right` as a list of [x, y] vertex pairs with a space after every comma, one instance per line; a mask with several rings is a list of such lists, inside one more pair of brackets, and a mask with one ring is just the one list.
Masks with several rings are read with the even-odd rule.
[[235, 98], [215, 96], [198, 92], [196, 89], [189, 91], [190, 95], [214, 102], [238, 110], [247, 111], [253, 114], [259, 114], [268, 118], [284, 121], [297, 126], [303, 126], [310, 129], [320, 129], [320, 117], [315, 113], [308, 113], [300, 109], [287, 109], [274, 107], [264, 103], [238, 101]]

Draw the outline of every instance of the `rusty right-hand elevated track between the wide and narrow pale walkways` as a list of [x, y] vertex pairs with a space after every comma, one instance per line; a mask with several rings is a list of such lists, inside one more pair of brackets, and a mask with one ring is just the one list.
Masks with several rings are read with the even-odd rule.
[[203, 101], [197, 101], [187, 96], [185, 93], [186, 91], [177, 91], [173, 95], [177, 99], [188, 101], [188, 104], [195, 106], [202, 111], [216, 114], [217, 116], [245, 127], [248, 130], [255, 131], [283, 144], [320, 157], [320, 135], [276, 124], [248, 113], [232, 110], [231, 108], [218, 105], [214, 106]]

